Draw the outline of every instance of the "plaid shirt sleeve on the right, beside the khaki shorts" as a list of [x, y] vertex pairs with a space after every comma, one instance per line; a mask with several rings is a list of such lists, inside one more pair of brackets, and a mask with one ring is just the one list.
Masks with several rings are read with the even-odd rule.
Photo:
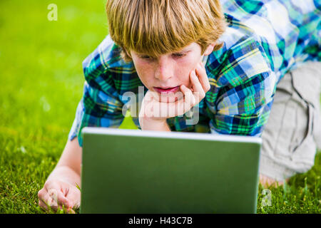
[[245, 40], [228, 51], [222, 66], [210, 79], [216, 98], [210, 108], [210, 132], [260, 136], [277, 83], [263, 48], [257, 41]]

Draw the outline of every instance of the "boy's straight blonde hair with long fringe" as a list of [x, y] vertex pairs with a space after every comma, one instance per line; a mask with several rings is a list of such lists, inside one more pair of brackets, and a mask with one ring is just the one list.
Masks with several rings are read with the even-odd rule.
[[[202, 54], [225, 31], [219, 0], [108, 0], [109, 34], [126, 51], [159, 56], [196, 42]], [[222, 46], [219, 43], [214, 50]]]

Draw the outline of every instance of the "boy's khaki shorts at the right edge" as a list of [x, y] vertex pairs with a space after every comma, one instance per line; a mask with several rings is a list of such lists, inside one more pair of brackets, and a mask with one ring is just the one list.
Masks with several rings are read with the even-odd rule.
[[263, 130], [260, 174], [283, 181], [314, 165], [321, 148], [321, 62], [307, 62], [277, 85]]

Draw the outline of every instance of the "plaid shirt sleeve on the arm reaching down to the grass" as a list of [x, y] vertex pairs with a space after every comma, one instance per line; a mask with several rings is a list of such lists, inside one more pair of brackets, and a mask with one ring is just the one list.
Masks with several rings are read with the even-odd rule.
[[123, 102], [115, 86], [110, 63], [115, 59], [115, 46], [109, 36], [85, 61], [83, 73], [85, 83], [83, 97], [78, 103], [76, 118], [73, 121], [68, 139], [78, 137], [83, 145], [81, 130], [84, 127], [118, 128], [123, 122]]

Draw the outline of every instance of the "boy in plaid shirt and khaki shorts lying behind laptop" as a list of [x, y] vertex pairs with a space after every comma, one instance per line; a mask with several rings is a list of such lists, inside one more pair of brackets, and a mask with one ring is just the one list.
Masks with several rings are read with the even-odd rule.
[[[109, 35], [83, 62], [83, 98], [41, 207], [79, 206], [81, 129], [118, 128], [125, 93], [141, 87], [132, 112], [141, 130], [262, 136], [263, 184], [312, 167], [320, 67], [287, 71], [320, 61], [317, 1], [108, 0], [106, 10]], [[195, 108], [187, 124], [182, 114]]]

